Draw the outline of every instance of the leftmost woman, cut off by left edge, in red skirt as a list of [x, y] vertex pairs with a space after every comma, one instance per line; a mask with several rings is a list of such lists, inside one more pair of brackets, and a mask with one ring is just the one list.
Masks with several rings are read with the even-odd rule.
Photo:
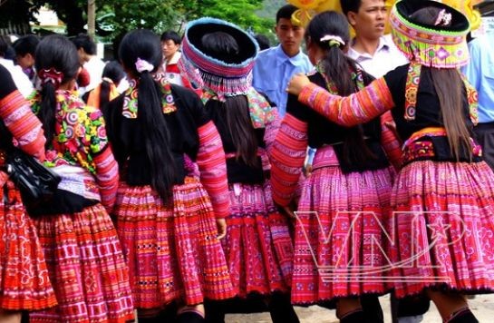
[[52, 308], [56, 298], [33, 220], [8, 179], [6, 151], [13, 138], [24, 152], [44, 160], [41, 122], [0, 65], [0, 321], [19, 323], [21, 311]]

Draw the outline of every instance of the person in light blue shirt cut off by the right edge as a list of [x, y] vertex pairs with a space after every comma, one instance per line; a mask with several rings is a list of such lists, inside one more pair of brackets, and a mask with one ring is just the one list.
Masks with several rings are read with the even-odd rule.
[[484, 160], [494, 170], [494, 33], [475, 38], [469, 49], [470, 63], [462, 72], [479, 93], [479, 124], [473, 131]]

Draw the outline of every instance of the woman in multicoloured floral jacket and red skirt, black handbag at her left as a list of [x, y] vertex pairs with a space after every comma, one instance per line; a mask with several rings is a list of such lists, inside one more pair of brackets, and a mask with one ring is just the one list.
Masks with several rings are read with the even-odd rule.
[[62, 181], [53, 201], [35, 210], [58, 306], [33, 312], [30, 322], [118, 322], [134, 318], [129, 272], [109, 213], [118, 165], [100, 110], [73, 91], [80, 71], [77, 50], [62, 35], [36, 48], [42, 88], [30, 99], [43, 122], [46, 160]]

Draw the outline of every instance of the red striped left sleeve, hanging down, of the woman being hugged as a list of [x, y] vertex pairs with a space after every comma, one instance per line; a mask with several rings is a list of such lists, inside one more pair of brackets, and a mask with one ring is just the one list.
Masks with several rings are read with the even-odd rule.
[[286, 206], [292, 200], [304, 166], [307, 123], [286, 113], [271, 148], [273, 200]]

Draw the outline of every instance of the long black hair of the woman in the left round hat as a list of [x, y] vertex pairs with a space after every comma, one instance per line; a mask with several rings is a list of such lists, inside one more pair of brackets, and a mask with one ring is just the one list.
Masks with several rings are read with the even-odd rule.
[[[205, 54], [223, 62], [236, 60], [240, 48], [235, 38], [224, 32], [204, 34], [201, 38], [202, 50]], [[228, 96], [225, 103], [220, 104], [225, 115], [228, 132], [237, 148], [237, 160], [248, 166], [257, 166], [257, 137], [250, 121], [248, 102], [245, 95]]]

